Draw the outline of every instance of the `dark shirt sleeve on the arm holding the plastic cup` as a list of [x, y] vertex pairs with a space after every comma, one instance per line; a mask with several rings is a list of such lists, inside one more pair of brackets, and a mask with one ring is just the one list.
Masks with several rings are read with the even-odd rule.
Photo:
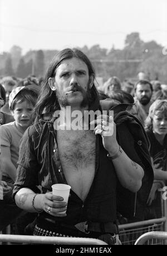
[[32, 136], [30, 136], [30, 127], [23, 134], [19, 144], [19, 159], [17, 168], [17, 177], [14, 183], [13, 198], [23, 187], [28, 187], [34, 192], [39, 192], [38, 186], [38, 162]]

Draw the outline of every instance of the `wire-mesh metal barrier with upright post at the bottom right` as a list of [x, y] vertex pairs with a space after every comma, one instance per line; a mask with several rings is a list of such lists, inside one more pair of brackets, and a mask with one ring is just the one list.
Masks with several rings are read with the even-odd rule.
[[[160, 183], [161, 188], [159, 189], [159, 199], [160, 199], [160, 214], [157, 219], [149, 219], [144, 221], [138, 221], [134, 223], [127, 223], [119, 225], [120, 234], [119, 239], [122, 245], [134, 245], [136, 240], [143, 234], [155, 231], [167, 231], [167, 220], [166, 220], [166, 200], [163, 200], [163, 190], [165, 186], [163, 181], [155, 181]], [[164, 239], [154, 238], [147, 242], [147, 244], [164, 244]]]

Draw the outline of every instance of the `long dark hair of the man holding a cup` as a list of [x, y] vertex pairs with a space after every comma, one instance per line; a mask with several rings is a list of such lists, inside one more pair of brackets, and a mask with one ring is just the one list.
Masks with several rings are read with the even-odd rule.
[[[64, 49], [60, 52], [58, 52], [55, 57], [53, 57], [53, 60], [48, 67], [45, 80], [43, 81], [43, 84], [41, 86], [41, 93], [38, 98], [35, 113], [36, 113], [36, 121], [41, 119], [42, 113], [54, 113], [55, 110], [60, 109], [60, 104], [58, 103], [58, 99], [56, 96], [55, 91], [52, 91], [49, 84], [48, 79], [54, 78], [56, 75], [56, 69], [61, 64], [63, 60], [66, 59], [72, 59], [73, 57], [76, 57], [78, 59], [81, 59], [85, 62], [85, 64], [88, 67], [89, 70], [89, 76], [93, 75], [95, 77], [95, 70], [92, 66], [90, 60], [88, 57], [80, 50], [78, 49]], [[93, 102], [97, 102], [99, 100], [99, 94], [97, 92], [97, 89], [95, 87], [95, 84], [93, 84], [91, 88], [91, 102], [89, 105], [91, 105]]]

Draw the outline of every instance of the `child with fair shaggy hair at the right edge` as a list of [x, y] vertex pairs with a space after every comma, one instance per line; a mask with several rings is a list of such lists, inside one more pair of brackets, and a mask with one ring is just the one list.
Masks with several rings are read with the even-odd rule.
[[[154, 170], [154, 179], [167, 181], [167, 100], [158, 99], [150, 106], [145, 129], [150, 140], [150, 155]], [[148, 205], [157, 206], [156, 191], [160, 183], [154, 182]], [[154, 208], [155, 208], [154, 207]]]

